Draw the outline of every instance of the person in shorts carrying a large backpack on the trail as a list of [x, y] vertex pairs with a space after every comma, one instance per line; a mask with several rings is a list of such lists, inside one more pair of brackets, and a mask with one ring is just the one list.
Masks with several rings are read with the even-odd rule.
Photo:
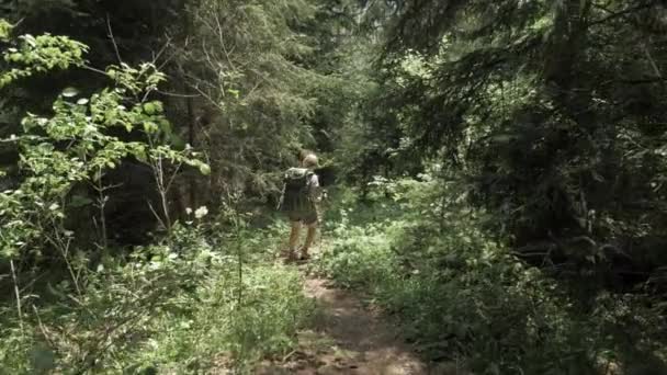
[[301, 248], [298, 259], [310, 258], [309, 250], [317, 235], [319, 224], [319, 202], [321, 201], [319, 178], [315, 174], [318, 161], [315, 154], [306, 154], [301, 160], [301, 168], [290, 168], [285, 172], [280, 209], [290, 218], [290, 248], [287, 259], [296, 259], [296, 246], [302, 226], [308, 228], [306, 241]]

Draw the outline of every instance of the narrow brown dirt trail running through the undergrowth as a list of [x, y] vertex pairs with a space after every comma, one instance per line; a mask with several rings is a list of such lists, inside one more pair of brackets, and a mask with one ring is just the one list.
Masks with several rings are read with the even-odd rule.
[[257, 374], [442, 374], [427, 371], [396, 330], [349, 292], [314, 277], [306, 280], [304, 289], [318, 305], [314, 329], [299, 333], [297, 350], [283, 363], [264, 364]]

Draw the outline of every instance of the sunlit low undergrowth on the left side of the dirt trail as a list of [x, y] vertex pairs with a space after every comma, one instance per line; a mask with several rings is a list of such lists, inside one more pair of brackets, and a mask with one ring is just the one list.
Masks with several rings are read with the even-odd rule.
[[0, 374], [245, 374], [290, 352], [314, 309], [301, 275], [273, 265], [270, 231], [221, 229], [79, 268], [78, 285], [24, 296], [22, 319], [3, 304]]

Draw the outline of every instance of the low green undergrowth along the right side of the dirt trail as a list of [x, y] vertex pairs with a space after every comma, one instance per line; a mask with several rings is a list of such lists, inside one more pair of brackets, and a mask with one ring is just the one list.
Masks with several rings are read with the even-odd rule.
[[343, 191], [316, 268], [396, 316], [429, 361], [474, 374], [667, 373], [665, 322], [643, 296], [600, 292], [581, 310], [484, 230], [462, 191], [428, 175], [376, 180], [365, 201]]

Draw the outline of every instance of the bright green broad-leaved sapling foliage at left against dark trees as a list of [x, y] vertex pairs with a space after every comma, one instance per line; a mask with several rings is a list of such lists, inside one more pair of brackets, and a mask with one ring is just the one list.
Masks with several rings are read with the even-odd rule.
[[[44, 245], [61, 248], [74, 236], [65, 228], [72, 189], [80, 183], [101, 184], [104, 173], [125, 158], [135, 157], [149, 166], [167, 160], [208, 171], [193, 150], [176, 151], [157, 144], [156, 136], [169, 123], [161, 103], [145, 98], [162, 76], [148, 65], [109, 71], [117, 88], [76, 102], [77, 91], [66, 89], [54, 103], [52, 117], [29, 114], [22, 122], [24, 133], [9, 139], [19, 145], [24, 179], [19, 189], [0, 194], [0, 221], [10, 229], [0, 236], [3, 257], [14, 258], [21, 249], [41, 252], [38, 241], [44, 239]], [[123, 103], [140, 93], [144, 101], [125, 107]], [[113, 135], [116, 128], [127, 133], [139, 128], [146, 140], [125, 141]]]

